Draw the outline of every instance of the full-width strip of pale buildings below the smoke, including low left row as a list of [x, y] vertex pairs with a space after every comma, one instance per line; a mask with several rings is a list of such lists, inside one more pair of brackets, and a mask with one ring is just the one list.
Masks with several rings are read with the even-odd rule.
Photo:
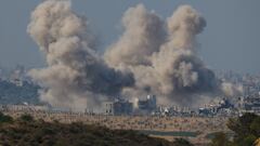
[[[47, 111], [47, 112], [75, 112], [72, 108], [50, 105], [0, 105], [0, 110], [9, 111]], [[82, 112], [82, 111], [81, 111]], [[158, 117], [233, 117], [244, 112], [260, 115], [260, 93], [242, 96], [236, 102], [227, 98], [219, 99], [199, 108], [180, 106], [158, 106], [155, 95], [147, 95], [145, 98], [129, 102], [123, 98], [116, 98], [103, 102], [101, 111], [86, 109], [84, 114], [106, 116], [158, 116]]]

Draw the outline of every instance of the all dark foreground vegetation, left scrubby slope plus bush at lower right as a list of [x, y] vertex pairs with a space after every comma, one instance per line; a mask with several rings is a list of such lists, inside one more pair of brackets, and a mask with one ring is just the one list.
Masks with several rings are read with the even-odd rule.
[[[218, 132], [210, 146], [260, 146], [260, 116], [245, 114], [227, 122], [232, 133]], [[30, 115], [17, 119], [0, 112], [0, 146], [193, 146], [177, 138], [168, 142], [130, 130], [109, 130], [81, 122], [70, 124], [35, 120]]]

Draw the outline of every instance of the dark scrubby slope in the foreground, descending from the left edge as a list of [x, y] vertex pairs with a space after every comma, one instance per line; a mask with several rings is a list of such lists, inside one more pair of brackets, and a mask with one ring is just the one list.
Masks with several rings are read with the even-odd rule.
[[[3, 119], [3, 120], [1, 120]], [[80, 122], [34, 120], [23, 115], [13, 120], [0, 114], [0, 145], [3, 146], [192, 146], [185, 140], [173, 143], [126, 130], [108, 130]]]

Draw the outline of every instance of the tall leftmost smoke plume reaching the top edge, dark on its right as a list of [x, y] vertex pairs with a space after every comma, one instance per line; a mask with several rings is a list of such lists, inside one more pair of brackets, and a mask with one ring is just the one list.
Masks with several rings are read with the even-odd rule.
[[70, 10], [69, 1], [49, 0], [31, 14], [28, 32], [46, 54], [48, 66], [29, 75], [44, 90], [41, 99], [77, 108], [120, 94], [134, 83], [132, 74], [108, 67], [94, 50], [86, 18]]

